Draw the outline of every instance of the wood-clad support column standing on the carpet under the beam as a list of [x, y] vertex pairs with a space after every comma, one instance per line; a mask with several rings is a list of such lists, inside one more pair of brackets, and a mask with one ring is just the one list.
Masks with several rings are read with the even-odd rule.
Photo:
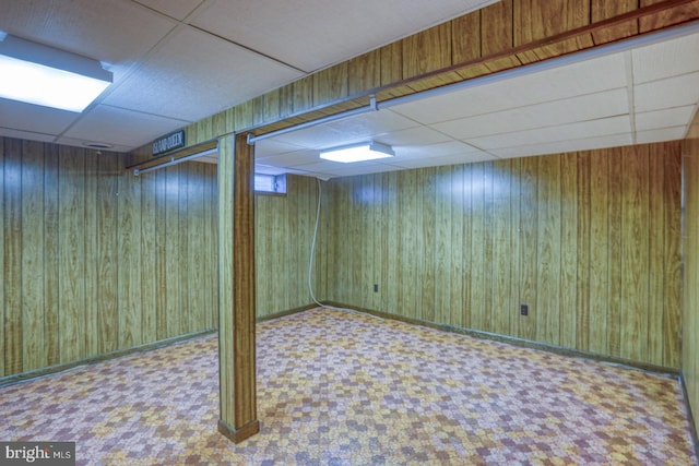
[[260, 430], [254, 367], [254, 154], [247, 134], [218, 142], [218, 431]]

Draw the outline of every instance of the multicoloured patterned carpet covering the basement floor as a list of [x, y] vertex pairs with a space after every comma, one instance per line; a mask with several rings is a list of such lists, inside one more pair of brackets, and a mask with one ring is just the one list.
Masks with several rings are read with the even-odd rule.
[[672, 378], [327, 309], [258, 324], [258, 418], [216, 431], [214, 336], [0, 389], [79, 465], [697, 464]]

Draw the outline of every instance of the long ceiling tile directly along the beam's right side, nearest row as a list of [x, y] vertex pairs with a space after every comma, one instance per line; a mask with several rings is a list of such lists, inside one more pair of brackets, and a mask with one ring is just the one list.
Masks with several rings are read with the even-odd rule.
[[485, 84], [474, 85], [478, 82], [474, 80], [462, 89], [390, 108], [425, 124], [510, 110], [624, 87], [624, 63], [623, 55], [613, 55], [518, 77], [502, 80], [496, 75], [484, 80]]

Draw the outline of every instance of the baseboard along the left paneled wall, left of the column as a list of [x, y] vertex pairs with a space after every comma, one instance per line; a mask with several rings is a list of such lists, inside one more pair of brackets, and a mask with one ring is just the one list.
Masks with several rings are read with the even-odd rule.
[[76, 361], [66, 362], [62, 365], [50, 366], [47, 368], [35, 369], [32, 371], [20, 372], [16, 374], [5, 375], [0, 378], [0, 387], [13, 385], [15, 383], [24, 382], [32, 379], [38, 379], [46, 375], [51, 375], [57, 372], [63, 372], [70, 369], [75, 369], [81, 366], [96, 365], [98, 362], [108, 361], [110, 359], [120, 358], [122, 356], [133, 355], [137, 353], [149, 351], [152, 349], [162, 348], [165, 346], [176, 345], [178, 343], [188, 342], [190, 339], [200, 338], [202, 336], [212, 335], [217, 333], [217, 328], [205, 330], [201, 332], [188, 333], [185, 335], [178, 335], [170, 338], [158, 339], [157, 342], [146, 343], [144, 345], [133, 346], [131, 348], [118, 349], [111, 353], [105, 353], [103, 355], [92, 356], [90, 358], [80, 359]]

